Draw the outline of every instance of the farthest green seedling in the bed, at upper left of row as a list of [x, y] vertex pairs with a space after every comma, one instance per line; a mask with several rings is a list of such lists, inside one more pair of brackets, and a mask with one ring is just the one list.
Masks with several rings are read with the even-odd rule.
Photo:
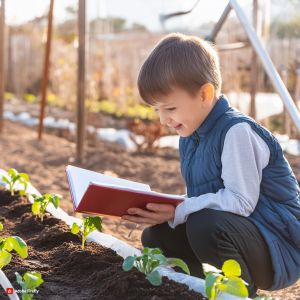
[[[15, 188], [19, 185], [19, 194], [24, 196], [27, 191], [29, 177], [26, 173], [19, 173], [17, 170], [11, 168], [8, 170], [7, 175], [2, 176], [3, 182], [8, 184], [10, 194], [14, 196]], [[20, 185], [23, 189], [20, 189]]]

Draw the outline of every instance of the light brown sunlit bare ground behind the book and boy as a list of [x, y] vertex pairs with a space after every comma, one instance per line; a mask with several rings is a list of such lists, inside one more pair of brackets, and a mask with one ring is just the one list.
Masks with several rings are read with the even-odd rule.
[[[75, 144], [66, 139], [44, 134], [37, 140], [37, 131], [5, 121], [4, 132], [0, 136], [0, 168], [16, 168], [30, 176], [32, 184], [41, 192], [54, 192], [63, 196], [61, 207], [74, 215], [65, 166], [73, 164], [97, 172], [109, 172], [118, 177], [147, 183], [152, 189], [164, 193], [184, 194], [184, 182], [180, 176], [179, 157], [171, 148], [158, 149], [153, 153], [128, 153], [122, 147], [109, 142], [98, 141], [85, 148], [85, 159], [81, 164], [74, 162]], [[300, 157], [286, 155], [297, 179], [300, 180]], [[81, 217], [81, 215], [76, 215]], [[133, 224], [105, 217], [103, 232], [141, 248], [139, 226], [130, 236]], [[300, 299], [300, 281], [293, 286], [271, 293], [280, 299]], [[141, 298], [140, 298], [141, 299]]]

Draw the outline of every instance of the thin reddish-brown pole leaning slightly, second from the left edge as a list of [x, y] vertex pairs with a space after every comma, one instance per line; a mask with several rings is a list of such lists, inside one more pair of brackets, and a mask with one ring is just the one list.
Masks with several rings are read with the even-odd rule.
[[48, 14], [48, 28], [47, 28], [47, 42], [46, 42], [46, 51], [45, 51], [45, 60], [44, 60], [44, 73], [41, 89], [41, 106], [40, 106], [40, 121], [39, 121], [39, 131], [38, 139], [42, 139], [42, 133], [44, 129], [44, 115], [45, 115], [45, 106], [46, 106], [46, 96], [47, 96], [47, 86], [49, 78], [49, 61], [50, 61], [50, 52], [51, 52], [51, 37], [52, 37], [52, 19], [53, 19], [53, 6], [54, 0], [50, 0], [50, 8]]

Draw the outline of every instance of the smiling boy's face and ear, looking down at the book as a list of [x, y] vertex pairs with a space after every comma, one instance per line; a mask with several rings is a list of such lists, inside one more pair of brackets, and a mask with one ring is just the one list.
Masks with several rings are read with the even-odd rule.
[[174, 88], [169, 95], [159, 97], [153, 107], [161, 124], [187, 137], [204, 122], [213, 107], [213, 100], [213, 94], [202, 87], [195, 96], [181, 88]]

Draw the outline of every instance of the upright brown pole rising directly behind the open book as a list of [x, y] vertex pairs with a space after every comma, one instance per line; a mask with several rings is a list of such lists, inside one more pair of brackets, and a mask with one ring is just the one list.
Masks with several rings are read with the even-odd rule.
[[83, 159], [85, 134], [85, 0], [79, 0], [78, 9], [78, 71], [77, 71], [77, 141], [76, 160]]

